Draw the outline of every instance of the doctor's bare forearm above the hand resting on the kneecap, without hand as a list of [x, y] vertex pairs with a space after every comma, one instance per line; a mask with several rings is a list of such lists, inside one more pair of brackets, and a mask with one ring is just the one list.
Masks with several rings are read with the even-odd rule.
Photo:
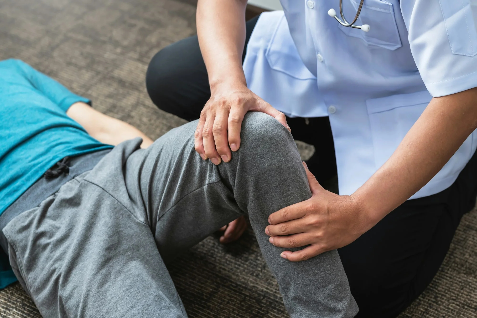
[[217, 84], [246, 86], [242, 69], [246, 0], [199, 0], [197, 37], [211, 89]]

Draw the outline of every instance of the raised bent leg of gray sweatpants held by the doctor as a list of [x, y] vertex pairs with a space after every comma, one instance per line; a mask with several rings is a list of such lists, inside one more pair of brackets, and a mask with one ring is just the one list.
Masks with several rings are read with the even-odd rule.
[[291, 317], [353, 317], [357, 306], [336, 250], [294, 263], [265, 234], [271, 213], [311, 197], [288, 130], [266, 114], [248, 113], [239, 151], [215, 166], [194, 150], [196, 126], [173, 129], [126, 161], [128, 196], [142, 198], [138, 209], [162, 258], [167, 262], [247, 213]]

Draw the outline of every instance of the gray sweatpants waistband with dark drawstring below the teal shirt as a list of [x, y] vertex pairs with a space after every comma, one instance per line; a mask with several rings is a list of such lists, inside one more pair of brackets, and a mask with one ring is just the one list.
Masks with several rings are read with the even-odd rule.
[[[111, 149], [99, 150], [77, 157], [72, 157], [69, 162], [68, 174], [62, 174], [54, 179], [46, 179], [42, 176], [33, 185], [28, 188], [20, 198], [16, 199], [10, 207], [8, 207], [0, 215], [0, 240], [3, 237], [3, 228], [16, 216], [24, 211], [38, 207], [43, 200], [52, 196], [61, 188], [63, 184], [74, 179], [83, 172], [89, 171], [111, 151]], [[1, 243], [1, 242], [0, 242]]]

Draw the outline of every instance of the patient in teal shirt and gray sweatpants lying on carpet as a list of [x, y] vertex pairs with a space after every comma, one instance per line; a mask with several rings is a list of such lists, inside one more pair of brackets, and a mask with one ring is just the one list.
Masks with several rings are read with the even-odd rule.
[[43, 317], [187, 317], [165, 263], [230, 222], [221, 241], [237, 237], [245, 214], [291, 317], [357, 313], [336, 250], [290, 262], [265, 234], [271, 213], [311, 197], [278, 121], [247, 114], [215, 166], [194, 149], [196, 122], [153, 143], [87, 104], [0, 61], [0, 243]]

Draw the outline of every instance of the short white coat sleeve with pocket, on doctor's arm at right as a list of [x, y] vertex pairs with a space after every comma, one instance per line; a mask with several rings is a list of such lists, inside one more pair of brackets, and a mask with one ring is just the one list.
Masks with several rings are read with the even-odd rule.
[[477, 0], [401, 0], [411, 51], [432, 96], [477, 87]]

